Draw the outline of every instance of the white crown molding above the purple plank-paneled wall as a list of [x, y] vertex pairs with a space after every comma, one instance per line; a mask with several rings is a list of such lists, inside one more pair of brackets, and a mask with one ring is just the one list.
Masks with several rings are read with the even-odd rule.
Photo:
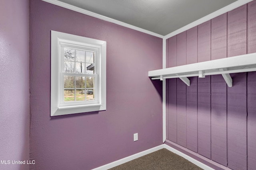
[[190, 28], [193, 28], [197, 25], [200, 25], [201, 23], [204, 23], [206, 21], [209, 21], [217, 16], [220, 16], [226, 12], [229, 12], [231, 10], [234, 10], [244, 4], [247, 4], [248, 2], [251, 2], [253, 0], [238, 0], [236, 2], [233, 2], [232, 4], [229, 4], [228, 6], [225, 6], [215, 12], [212, 12], [211, 14], [207, 15], [207, 16], [204, 16], [203, 18], [200, 18], [192, 23], [189, 23], [188, 25], [185, 25], [184, 27], [181, 27], [180, 29], [177, 29], [176, 31], [173, 31], [167, 35], [164, 36], [164, 39], [168, 39], [170, 37], [173, 37], [174, 35], [177, 35], [179, 33], [182, 33]]

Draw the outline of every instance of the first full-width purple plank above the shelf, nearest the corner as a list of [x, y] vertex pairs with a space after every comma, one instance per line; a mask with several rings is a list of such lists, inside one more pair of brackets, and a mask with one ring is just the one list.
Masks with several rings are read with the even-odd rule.
[[168, 65], [167, 67], [177, 66], [177, 36], [168, 39]]

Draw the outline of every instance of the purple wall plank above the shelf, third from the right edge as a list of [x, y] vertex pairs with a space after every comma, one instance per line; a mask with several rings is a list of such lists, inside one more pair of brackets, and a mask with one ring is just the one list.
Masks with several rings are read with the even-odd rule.
[[227, 57], [227, 13], [213, 18], [211, 23], [211, 60]]

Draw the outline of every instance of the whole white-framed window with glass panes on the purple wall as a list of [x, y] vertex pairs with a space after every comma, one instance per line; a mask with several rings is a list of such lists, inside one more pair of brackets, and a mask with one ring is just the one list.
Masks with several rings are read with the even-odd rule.
[[106, 41], [51, 31], [51, 116], [106, 110]]

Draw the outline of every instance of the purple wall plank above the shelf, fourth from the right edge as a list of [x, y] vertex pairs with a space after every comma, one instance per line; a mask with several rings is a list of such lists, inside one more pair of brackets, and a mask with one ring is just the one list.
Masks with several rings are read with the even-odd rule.
[[197, 61], [211, 60], [211, 21], [198, 25], [198, 57]]

